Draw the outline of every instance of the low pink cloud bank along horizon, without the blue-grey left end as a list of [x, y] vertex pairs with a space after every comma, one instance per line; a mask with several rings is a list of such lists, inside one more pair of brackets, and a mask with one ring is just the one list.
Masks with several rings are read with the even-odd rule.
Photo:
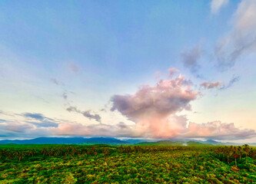
[[166, 119], [158, 119], [158, 117], [151, 120], [144, 119], [135, 126], [128, 126], [122, 122], [115, 125], [60, 123], [58, 127], [49, 128], [49, 132], [57, 136], [127, 136], [159, 139], [194, 137], [240, 140], [255, 136], [254, 130], [239, 129], [234, 123], [221, 123], [221, 121], [188, 123], [187, 117], [177, 115], [171, 115]]

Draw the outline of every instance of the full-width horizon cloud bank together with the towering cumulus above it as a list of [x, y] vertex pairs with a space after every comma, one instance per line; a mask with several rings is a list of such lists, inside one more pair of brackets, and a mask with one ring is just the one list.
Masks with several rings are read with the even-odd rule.
[[[177, 69], [171, 71], [178, 72]], [[215, 87], [218, 84], [205, 84]], [[11, 114], [22, 120], [2, 119], [0, 134], [5, 137], [36, 136], [125, 136], [168, 138], [206, 138], [214, 140], [241, 140], [255, 136], [254, 130], [240, 129], [234, 123], [219, 120], [208, 123], [189, 122], [185, 115], [191, 110], [191, 102], [198, 100], [200, 91], [184, 75], [170, 80], [159, 80], [155, 86], [148, 84], [138, 88], [135, 94], [111, 97], [111, 110], [119, 112], [134, 124], [117, 121], [109, 124], [100, 114], [68, 107], [69, 112], [81, 113], [88, 117], [87, 123], [70, 122], [45, 117], [42, 113]], [[4, 112], [2, 112], [4, 113]], [[181, 115], [181, 113], [183, 113]], [[89, 123], [96, 120], [100, 123]]]

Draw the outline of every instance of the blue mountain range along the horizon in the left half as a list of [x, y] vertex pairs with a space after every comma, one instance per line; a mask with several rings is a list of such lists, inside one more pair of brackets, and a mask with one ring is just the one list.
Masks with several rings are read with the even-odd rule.
[[128, 144], [112, 137], [39, 137], [32, 140], [0, 140], [0, 144]]

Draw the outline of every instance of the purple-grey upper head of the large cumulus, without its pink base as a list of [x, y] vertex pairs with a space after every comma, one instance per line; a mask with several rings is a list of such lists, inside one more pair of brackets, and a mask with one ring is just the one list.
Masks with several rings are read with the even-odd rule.
[[191, 84], [185, 76], [168, 81], [159, 81], [155, 87], [141, 86], [136, 94], [115, 95], [113, 107], [131, 120], [148, 119], [148, 117], [167, 117], [181, 110], [189, 110], [191, 100], [199, 92], [191, 90]]

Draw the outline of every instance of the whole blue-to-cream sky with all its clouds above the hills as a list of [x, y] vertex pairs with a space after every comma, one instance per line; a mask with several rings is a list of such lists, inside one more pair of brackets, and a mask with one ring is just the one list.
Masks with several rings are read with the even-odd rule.
[[256, 142], [256, 1], [1, 1], [0, 139]]

